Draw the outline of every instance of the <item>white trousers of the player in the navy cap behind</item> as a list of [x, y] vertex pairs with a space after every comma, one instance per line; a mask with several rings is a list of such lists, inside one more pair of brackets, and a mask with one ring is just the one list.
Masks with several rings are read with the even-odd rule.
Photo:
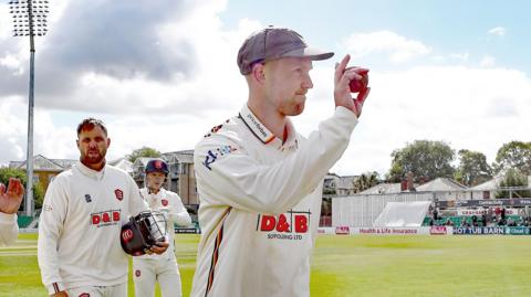
[[174, 257], [139, 258], [133, 257], [133, 279], [136, 297], [154, 297], [155, 283], [158, 282], [163, 297], [181, 297], [179, 267]]

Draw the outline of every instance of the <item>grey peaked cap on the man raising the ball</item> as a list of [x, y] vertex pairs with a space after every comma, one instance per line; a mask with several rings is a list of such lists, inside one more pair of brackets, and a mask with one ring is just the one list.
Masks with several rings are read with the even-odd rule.
[[309, 47], [304, 39], [293, 30], [269, 26], [252, 33], [238, 51], [238, 67], [242, 75], [251, 73], [252, 65], [260, 61], [281, 57], [310, 57], [326, 60], [334, 55], [314, 47]]

